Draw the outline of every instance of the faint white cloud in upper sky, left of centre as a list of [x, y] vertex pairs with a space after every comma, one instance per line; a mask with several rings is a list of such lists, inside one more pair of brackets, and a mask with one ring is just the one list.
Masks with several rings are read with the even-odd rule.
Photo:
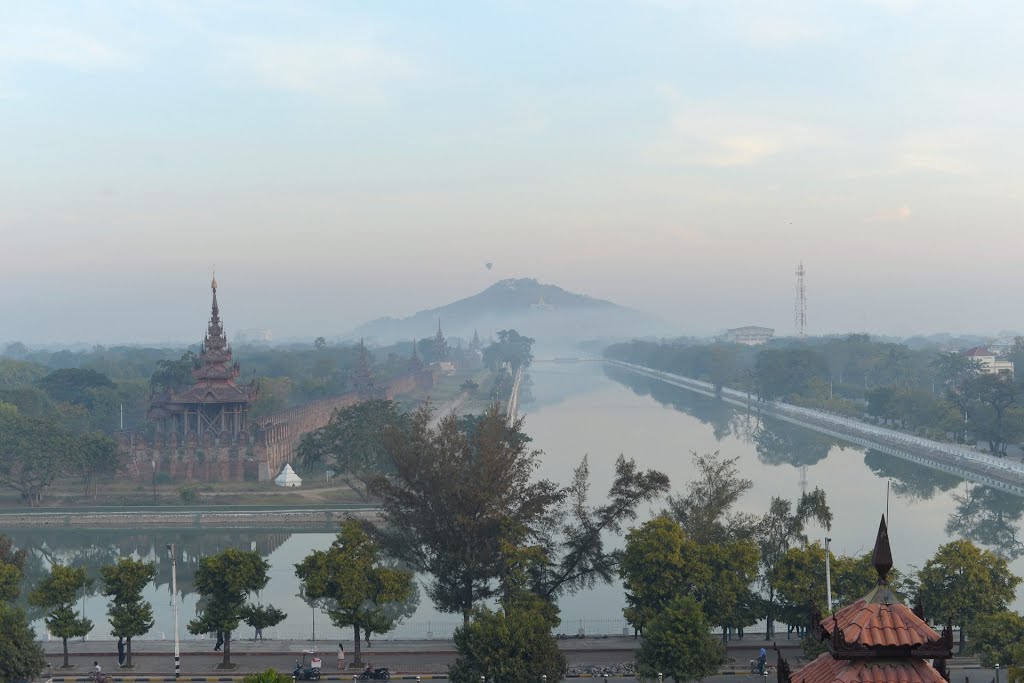
[[331, 97], [379, 94], [388, 82], [418, 69], [403, 55], [367, 40], [229, 38], [225, 67], [231, 78], [275, 90]]

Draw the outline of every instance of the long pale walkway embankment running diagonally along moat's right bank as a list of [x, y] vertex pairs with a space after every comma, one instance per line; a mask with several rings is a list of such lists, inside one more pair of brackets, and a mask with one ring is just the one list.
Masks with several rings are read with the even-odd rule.
[[[717, 397], [714, 385], [709, 382], [623, 360], [609, 359], [606, 362], [672, 386]], [[956, 443], [933, 441], [895, 429], [886, 429], [824, 411], [801, 408], [780, 400], [759, 400], [756, 396], [752, 397], [735, 389], [723, 388], [720, 398], [732, 405], [759, 411], [850, 443], [881, 451], [1024, 498], [1024, 463], [978, 453]]]

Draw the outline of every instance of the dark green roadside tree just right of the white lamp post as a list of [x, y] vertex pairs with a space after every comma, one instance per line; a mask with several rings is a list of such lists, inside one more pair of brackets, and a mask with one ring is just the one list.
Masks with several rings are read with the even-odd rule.
[[194, 584], [206, 607], [188, 623], [188, 633], [223, 633], [223, 669], [232, 668], [231, 632], [239, 628], [249, 595], [266, 587], [269, 569], [269, 563], [255, 550], [228, 548], [199, 561]]

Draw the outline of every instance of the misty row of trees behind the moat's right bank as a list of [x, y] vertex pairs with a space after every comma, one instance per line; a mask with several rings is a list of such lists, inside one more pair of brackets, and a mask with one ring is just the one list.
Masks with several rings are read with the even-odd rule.
[[[765, 346], [633, 341], [605, 356], [787, 402], [869, 418], [939, 440], [980, 441], [996, 455], [1024, 439], [1022, 380], [985, 374], [958, 350], [911, 348], [868, 335]], [[1006, 353], [1024, 368], [1024, 338]]]

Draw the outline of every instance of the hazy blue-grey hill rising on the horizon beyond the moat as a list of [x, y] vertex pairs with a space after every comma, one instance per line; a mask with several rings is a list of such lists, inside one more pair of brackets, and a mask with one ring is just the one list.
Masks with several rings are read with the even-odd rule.
[[634, 308], [523, 278], [503, 280], [479, 294], [409, 317], [372, 321], [356, 328], [352, 336], [389, 344], [432, 336], [438, 321], [450, 338], [469, 339], [476, 330], [486, 340], [498, 330], [514, 328], [539, 343], [633, 337], [666, 328], [657, 318]]

